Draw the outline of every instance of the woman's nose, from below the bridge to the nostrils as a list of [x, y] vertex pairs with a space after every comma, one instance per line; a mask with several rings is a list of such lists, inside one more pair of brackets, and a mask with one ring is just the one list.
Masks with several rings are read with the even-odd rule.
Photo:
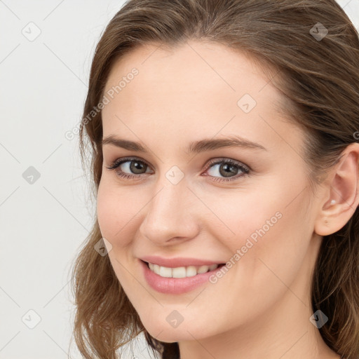
[[157, 245], [172, 245], [187, 241], [198, 234], [198, 198], [187, 188], [184, 179], [172, 184], [165, 179], [145, 208], [146, 216], [140, 225], [142, 236]]

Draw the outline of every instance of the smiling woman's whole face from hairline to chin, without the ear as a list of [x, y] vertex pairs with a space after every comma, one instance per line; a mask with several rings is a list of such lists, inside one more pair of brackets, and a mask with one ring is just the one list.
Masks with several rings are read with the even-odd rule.
[[[280, 93], [264, 74], [214, 43], [146, 46], [115, 63], [104, 95], [103, 137], [127, 147], [103, 144], [98, 222], [147, 331], [171, 342], [253, 334], [273, 320], [307, 325], [317, 202], [304, 134], [278, 112]], [[224, 146], [229, 139], [238, 144]], [[229, 264], [210, 276], [173, 271], [191, 279], [152, 273], [150, 285], [145, 256]], [[197, 278], [205, 279], [190, 287]]]

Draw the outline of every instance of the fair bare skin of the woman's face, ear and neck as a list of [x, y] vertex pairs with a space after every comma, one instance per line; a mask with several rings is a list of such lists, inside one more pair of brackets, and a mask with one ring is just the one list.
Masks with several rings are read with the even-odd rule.
[[[344, 226], [358, 205], [359, 145], [347, 147], [313, 195], [299, 155], [305, 134], [278, 113], [280, 93], [250, 58], [198, 41], [172, 50], [142, 46], [114, 64], [105, 92], [133, 67], [139, 74], [102, 110], [103, 134], [140, 142], [149, 153], [104, 144], [97, 217], [116, 276], [146, 330], [177, 341], [182, 359], [339, 358], [309, 320], [310, 280], [322, 236]], [[245, 93], [257, 102], [248, 114], [237, 105]], [[185, 150], [189, 142], [227, 135], [266, 151]], [[107, 168], [125, 156], [148, 167]], [[220, 165], [207, 169], [210, 159], [232, 159], [252, 171], [241, 176], [234, 168], [235, 179], [216, 182], [228, 177]], [[165, 177], [174, 165], [184, 175], [177, 184]], [[123, 179], [121, 170], [140, 177]], [[224, 263], [276, 212], [282, 217], [217, 283], [184, 294], [147, 285], [138, 257]], [[166, 317], [175, 310], [183, 322], [172, 327]]]

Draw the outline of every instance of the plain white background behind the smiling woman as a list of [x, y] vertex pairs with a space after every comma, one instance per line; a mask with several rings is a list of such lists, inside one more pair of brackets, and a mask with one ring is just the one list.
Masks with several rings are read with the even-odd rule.
[[[359, 29], [359, 0], [338, 2]], [[122, 5], [0, 0], [0, 358], [81, 358], [74, 342], [69, 348], [69, 269], [95, 203], [78, 139], [65, 133], [79, 125], [93, 51]], [[22, 34], [29, 26], [36, 34], [29, 22], [41, 30], [34, 41]], [[40, 175], [33, 184], [23, 177], [30, 166]], [[41, 318], [33, 329], [29, 310]], [[135, 348], [137, 358], [150, 358], [142, 340]]]

